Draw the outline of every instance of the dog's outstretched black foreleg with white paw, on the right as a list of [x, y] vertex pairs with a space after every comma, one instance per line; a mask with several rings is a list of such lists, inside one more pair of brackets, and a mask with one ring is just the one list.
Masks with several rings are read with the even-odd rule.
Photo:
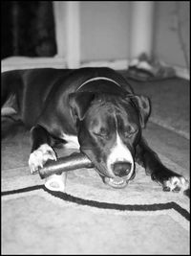
[[166, 168], [155, 151], [152, 151], [144, 138], [141, 138], [136, 152], [136, 161], [143, 166], [146, 175], [160, 185], [163, 191], [180, 192], [189, 188], [189, 182], [182, 176]]

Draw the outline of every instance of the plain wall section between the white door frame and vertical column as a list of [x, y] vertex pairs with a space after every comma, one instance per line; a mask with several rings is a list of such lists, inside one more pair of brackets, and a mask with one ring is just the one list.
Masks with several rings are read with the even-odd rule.
[[129, 58], [130, 2], [80, 2], [82, 61]]

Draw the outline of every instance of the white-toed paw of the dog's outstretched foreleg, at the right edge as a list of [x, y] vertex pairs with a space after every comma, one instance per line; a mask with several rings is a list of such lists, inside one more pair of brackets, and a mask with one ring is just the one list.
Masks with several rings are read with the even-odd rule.
[[164, 182], [163, 190], [183, 192], [189, 188], [189, 182], [183, 176], [172, 176]]

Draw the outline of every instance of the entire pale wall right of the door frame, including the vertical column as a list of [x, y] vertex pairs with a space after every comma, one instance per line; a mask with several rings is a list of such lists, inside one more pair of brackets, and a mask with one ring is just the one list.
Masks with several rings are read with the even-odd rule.
[[[150, 46], [145, 46], [148, 42], [152, 43], [151, 50], [156, 58], [171, 65], [186, 67], [178, 33], [170, 29], [176, 26], [175, 3], [175, 1], [150, 1], [150, 3], [149, 1], [81, 1], [81, 61], [135, 58], [144, 48], [145, 52], [149, 52]], [[187, 47], [188, 57], [189, 6], [188, 1], [180, 1], [181, 35]], [[155, 10], [154, 13], [152, 10], [149, 11], [152, 8]], [[153, 34], [152, 39], [149, 38], [151, 34]]]

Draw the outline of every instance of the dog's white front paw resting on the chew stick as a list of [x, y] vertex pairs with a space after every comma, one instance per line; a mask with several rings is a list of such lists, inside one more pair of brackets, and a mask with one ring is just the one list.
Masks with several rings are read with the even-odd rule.
[[56, 161], [57, 158], [48, 144], [43, 144], [36, 151], [32, 151], [29, 158], [31, 173], [37, 172], [49, 159]]

